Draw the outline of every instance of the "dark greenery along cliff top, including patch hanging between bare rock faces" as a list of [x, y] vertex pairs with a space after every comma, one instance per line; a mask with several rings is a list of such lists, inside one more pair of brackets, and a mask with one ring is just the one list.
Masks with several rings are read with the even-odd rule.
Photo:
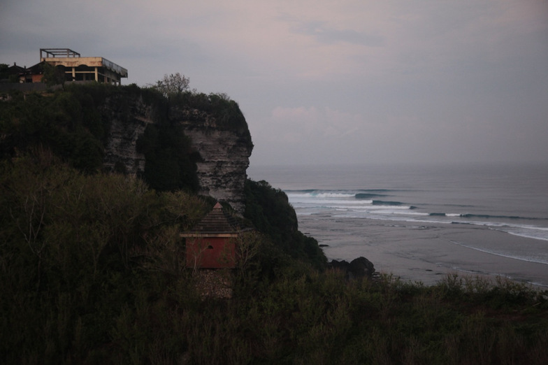
[[[182, 129], [168, 121], [169, 106], [164, 96], [136, 85], [71, 84], [50, 94], [13, 93], [0, 103], [0, 158], [41, 147], [80, 171], [100, 171], [112, 114], [127, 122], [137, 100], [151, 106], [157, 121], [138, 141], [138, 151], [146, 159], [145, 180], [161, 191], [196, 191], [199, 155], [190, 148]], [[120, 164], [115, 169], [124, 172]]]

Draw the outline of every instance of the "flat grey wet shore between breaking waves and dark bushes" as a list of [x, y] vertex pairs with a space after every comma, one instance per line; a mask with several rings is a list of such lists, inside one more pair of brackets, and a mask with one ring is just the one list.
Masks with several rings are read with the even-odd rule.
[[532, 238], [467, 224], [409, 227], [408, 223], [395, 221], [305, 215], [298, 220], [303, 233], [328, 245], [323, 247], [328, 259], [349, 261], [363, 256], [373, 262], [376, 271], [393, 273], [404, 280], [432, 285], [448, 273], [459, 273], [492, 278], [500, 275], [548, 287], [548, 265], [471, 248], [475, 243], [484, 248], [519, 247], [531, 243]]

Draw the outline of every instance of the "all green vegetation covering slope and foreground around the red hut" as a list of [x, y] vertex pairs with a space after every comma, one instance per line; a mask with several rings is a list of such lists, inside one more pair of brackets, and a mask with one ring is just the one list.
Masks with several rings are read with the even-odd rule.
[[[264, 181], [245, 187], [261, 234], [224, 272], [232, 299], [203, 297], [179, 233], [214, 202], [188, 181], [101, 173], [101, 93], [78, 92], [0, 106], [1, 364], [548, 363], [547, 291], [457, 275], [347, 281]], [[141, 147], [154, 155], [166, 143], [152, 137]]]

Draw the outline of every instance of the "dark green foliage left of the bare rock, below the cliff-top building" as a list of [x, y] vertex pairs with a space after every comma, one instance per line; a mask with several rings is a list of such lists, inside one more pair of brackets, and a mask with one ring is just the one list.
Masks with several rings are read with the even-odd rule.
[[79, 92], [14, 94], [0, 103], [1, 158], [43, 146], [81, 171], [92, 172], [103, 163], [106, 125], [94, 100]]

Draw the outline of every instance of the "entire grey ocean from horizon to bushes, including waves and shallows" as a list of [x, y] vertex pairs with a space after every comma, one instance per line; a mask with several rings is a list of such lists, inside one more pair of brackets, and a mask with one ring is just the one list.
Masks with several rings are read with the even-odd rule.
[[[548, 164], [250, 166], [328, 259], [433, 284], [447, 273], [548, 286]], [[375, 260], [378, 260], [375, 262]]]

